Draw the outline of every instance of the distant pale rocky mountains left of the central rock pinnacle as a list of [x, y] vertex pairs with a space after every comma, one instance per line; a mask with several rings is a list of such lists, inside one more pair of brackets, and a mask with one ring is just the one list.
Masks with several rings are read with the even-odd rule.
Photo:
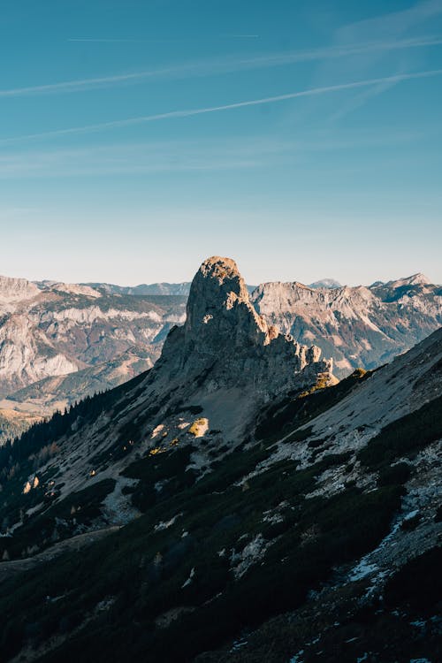
[[0, 397], [22, 400], [19, 390], [35, 385], [44, 410], [52, 399], [44, 402], [47, 378], [79, 372], [57, 394], [65, 403], [118, 385], [153, 365], [171, 326], [184, 322], [185, 305], [181, 296], [110, 295], [91, 286], [2, 277]]

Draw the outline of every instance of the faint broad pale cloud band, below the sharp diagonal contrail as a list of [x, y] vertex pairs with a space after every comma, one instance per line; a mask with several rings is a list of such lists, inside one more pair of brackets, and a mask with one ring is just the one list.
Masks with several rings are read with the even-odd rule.
[[[426, 129], [428, 133], [428, 128]], [[117, 142], [102, 146], [12, 149], [0, 154], [0, 179], [132, 176], [186, 171], [233, 171], [306, 167], [309, 155], [421, 141], [423, 132], [313, 131], [299, 137], [261, 134], [205, 141]], [[307, 158], [307, 160], [306, 160]], [[317, 166], [315, 165], [315, 168]]]

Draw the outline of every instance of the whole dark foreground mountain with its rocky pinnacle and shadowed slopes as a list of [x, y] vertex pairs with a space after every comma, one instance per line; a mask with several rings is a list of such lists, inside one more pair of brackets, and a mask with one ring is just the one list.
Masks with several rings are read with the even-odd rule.
[[440, 659], [441, 371], [334, 384], [202, 263], [153, 369], [0, 449], [5, 663]]

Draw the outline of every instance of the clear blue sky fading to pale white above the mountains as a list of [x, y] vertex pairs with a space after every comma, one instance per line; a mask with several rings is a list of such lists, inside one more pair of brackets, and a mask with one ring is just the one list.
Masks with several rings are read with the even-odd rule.
[[0, 273], [442, 283], [442, 0], [4, 0]]

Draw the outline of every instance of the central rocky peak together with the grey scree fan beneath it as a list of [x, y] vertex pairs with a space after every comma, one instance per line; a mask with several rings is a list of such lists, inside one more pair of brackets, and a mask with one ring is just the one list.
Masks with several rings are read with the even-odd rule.
[[236, 263], [214, 256], [194, 277], [186, 323], [171, 329], [144, 399], [167, 401], [168, 411], [197, 403], [213, 428], [237, 440], [276, 395], [336, 381], [331, 360], [320, 355], [318, 347], [268, 325], [250, 303]]

